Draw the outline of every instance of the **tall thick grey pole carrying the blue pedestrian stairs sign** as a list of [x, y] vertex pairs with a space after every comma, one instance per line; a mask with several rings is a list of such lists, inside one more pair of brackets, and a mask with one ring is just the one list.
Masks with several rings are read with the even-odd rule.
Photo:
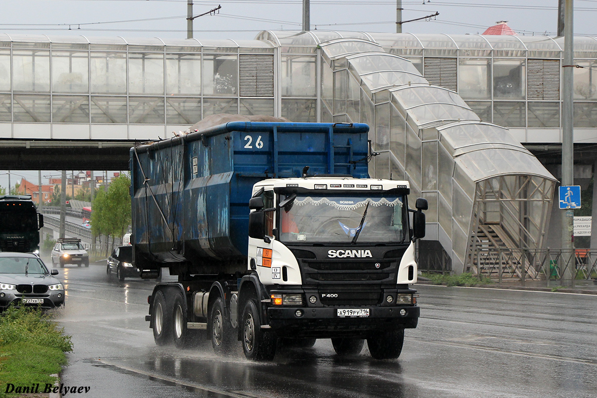
[[[564, 10], [564, 71], [562, 72], [562, 186], [574, 185], [574, 37], [573, 0], [565, 0]], [[562, 248], [570, 251], [568, 266], [564, 270], [564, 280], [574, 286], [576, 260], [573, 252], [573, 211], [566, 211], [562, 217]], [[574, 270], [573, 270], [574, 268]]]

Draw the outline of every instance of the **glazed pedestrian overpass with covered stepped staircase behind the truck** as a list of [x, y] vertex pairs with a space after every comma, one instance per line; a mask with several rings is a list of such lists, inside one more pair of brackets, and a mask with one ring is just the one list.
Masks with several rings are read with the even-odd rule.
[[[133, 144], [218, 113], [366, 122], [379, 153], [370, 174], [405, 178], [429, 200], [421, 252], [479, 271], [479, 248], [540, 249], [550, 239], [563, 45], [320, 30], [250, 41], [0, 33], [0, 164], [126, 169]], [[575, 38], [575, 48], [584, 66], [575, 69], [576, 166], [588, 181], [597, 39]], [[507, 266], [520, 274], [521, 260]]]

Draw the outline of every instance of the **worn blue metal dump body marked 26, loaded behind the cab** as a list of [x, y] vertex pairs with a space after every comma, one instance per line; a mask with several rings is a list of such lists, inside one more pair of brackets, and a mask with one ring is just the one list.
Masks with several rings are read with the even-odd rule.
[[366, 124], [229, 122], [131, 148], [136, 266], [241, 264], [253, 184], [300, 177], [304, 166], [309, 174], [366, 178], [368, 130]]

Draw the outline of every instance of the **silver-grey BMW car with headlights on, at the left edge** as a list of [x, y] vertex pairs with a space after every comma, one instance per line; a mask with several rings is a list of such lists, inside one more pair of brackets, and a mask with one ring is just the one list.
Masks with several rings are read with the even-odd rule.
[[10, 304], [41, 307], [64, 306], [64, 286], [58, 270], [48, 271], [44, 262], [31, 253], [0, 252], [0, 312]]

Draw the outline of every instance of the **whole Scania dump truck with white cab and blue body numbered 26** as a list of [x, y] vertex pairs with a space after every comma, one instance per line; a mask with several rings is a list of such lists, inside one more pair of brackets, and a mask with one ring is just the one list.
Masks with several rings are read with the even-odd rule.
[[[408, 181], [369, 178], [365, 124], [228, 122], [131, 149], [133, 263], [158, 345], [239, 341], [248, 359], [330, 338], [396, 358], [416, 328]], [[162, 275], [165, 276], [165, 275]], [[238, 343], [237, 343], [238, 344]]]

